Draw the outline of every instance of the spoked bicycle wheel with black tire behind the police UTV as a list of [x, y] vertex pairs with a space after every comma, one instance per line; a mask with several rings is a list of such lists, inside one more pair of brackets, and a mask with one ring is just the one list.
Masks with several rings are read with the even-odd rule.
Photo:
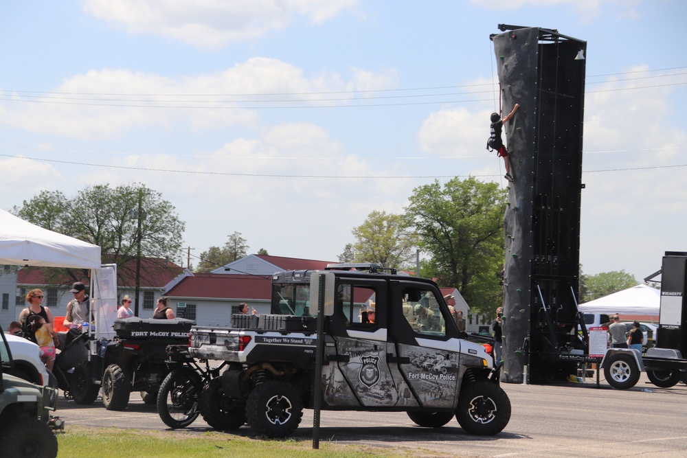
[[157, 392], [157, 413], [170, 428], [185, 428], [198, 417], [203, 380], [193, 369], [171, 371]]

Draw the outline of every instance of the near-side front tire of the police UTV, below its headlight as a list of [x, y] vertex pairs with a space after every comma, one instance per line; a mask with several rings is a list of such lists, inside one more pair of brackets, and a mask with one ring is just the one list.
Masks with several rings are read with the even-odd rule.
[[473, 382], [460, 390], [455, 419], [468, 433], [493, 436], [510, 421], [510, 400], [494, 382]]

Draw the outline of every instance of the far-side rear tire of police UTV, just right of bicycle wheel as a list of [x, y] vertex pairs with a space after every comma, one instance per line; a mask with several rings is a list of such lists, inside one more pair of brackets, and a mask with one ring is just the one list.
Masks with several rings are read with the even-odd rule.
[[215, 378], [205, 385], [199, 402], [203, 420], [220, 431], [238, 429], [246, 422], [243, 405], [224, 396], [222, 380]]

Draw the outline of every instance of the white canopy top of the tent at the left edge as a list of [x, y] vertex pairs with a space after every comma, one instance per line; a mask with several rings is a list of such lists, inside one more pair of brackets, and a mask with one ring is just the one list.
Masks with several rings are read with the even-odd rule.
[[0, 264], [100, 268], [100, 247], [0, 209]]

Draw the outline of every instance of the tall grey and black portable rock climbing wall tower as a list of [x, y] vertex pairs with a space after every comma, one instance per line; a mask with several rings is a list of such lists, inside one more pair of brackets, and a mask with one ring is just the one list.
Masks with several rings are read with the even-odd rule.
[[[515, 26], [513, 26], [515, 27]], [[504, 30], [502, 28], [502, 30]], [[506, 28], [506, 30], [508, 30]], [[576, 363], [586, 43], [538, 27], [492, 36], [515, 183], [504, 215], [502, 381], [561, 380]]]

